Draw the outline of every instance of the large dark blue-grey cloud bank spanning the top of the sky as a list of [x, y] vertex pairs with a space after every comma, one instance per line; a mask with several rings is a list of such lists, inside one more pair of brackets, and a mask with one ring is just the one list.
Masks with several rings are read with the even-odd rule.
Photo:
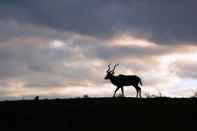
[[14, 0], [0, 2], [0, 20], [95, 36], [127, 31], [161, 43], [195, 42], [196, 0]]

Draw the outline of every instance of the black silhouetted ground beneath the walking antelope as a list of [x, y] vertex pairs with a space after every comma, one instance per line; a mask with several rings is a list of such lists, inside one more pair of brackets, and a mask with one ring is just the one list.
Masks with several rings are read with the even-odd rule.
[[196, 98], [4, 101], [0, 114], [6, 131], [197, 130]]

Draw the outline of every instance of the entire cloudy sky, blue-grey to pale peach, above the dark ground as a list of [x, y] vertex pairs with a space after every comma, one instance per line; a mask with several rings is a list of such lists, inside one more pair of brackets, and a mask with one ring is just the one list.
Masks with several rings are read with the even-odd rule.
[[[196, 0], [0, 1], [0, 99], [112, 96], [136, 74], [143, 95], [197, 91]], [[126, 96], [135, 96], [126, 88]]]

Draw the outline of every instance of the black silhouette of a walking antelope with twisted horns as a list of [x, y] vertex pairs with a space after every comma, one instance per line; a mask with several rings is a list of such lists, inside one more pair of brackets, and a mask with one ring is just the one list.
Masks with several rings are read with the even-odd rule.
[[139, 96], [141, 98], [141, 88], [139, 87], [139, 84], [142, 86], [142, 80], [140, 79], [140, 77], [136, 75], [123, 75], [123, 74], [119, 74], [118, 76], [115, 76], [114, 71], [119, 64], [115, 64], [112, 70], [110, 70], [110, 65], [111, 64], [108, 65], [108, 70], [106, 71], [107, 75], [105, 76], [105, 79], [109, 79], [111, 83], [117, 87], [116, 90], [114, 91], [113, 97], [115, 97], [116, 92], [119, 89], [121, 89], [122, 96], [124, 96], [123, 87], [133, 86], [137, 91], [136, 97]]

